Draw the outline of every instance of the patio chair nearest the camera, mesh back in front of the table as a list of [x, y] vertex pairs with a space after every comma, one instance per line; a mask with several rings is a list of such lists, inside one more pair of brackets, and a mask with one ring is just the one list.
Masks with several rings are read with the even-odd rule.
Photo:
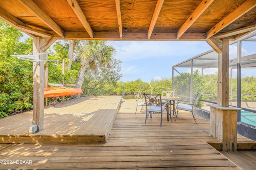
[[161, 100], [161, 94], [145, 94], [145, 103], [146, 105], [146, 119], [145, 123], [147, 121], [147, 117], [150, 115], [150, 118], [152, 118], [152, 112], [153, 113], [161, 113], [161, 122], [160, 126], [162, 126], [162, 117], [163, 117], [163, 111], [166, 109], [167, 111], [167, 120], [169, 121], [169, 108], [168, 108], [168, 102], [166, 102], [166, 106], [163, 106], [162, 100]]

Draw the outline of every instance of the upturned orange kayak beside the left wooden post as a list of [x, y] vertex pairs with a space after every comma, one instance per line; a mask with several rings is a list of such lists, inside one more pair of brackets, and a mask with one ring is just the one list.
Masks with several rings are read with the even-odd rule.
[[52, 87], [44, 88], [44, 97], [59, 97], [59, 96], [71, 96], [75, 94], [82, 94], [80, 88], [65, 88], [65, 87]]

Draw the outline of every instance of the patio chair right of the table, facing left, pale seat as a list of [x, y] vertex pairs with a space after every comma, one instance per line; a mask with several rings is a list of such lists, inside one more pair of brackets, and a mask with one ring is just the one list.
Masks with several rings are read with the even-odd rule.
[[196, 101], [198, 99], [198, 96], [199, 96], [198, 94], [199, 93], [195, 94], [195, 96], [194, 96], [194, 98], [191, 102], [184, 101], [184, 100], [178, 100], [177, 103], [176, 103], [177, 104], [177, 106], [176, 106], [176, 110], [177, 110], [176, 116], [178, 116], [178, 109], [185, 110], [185, 111], [190, 111], [190, 112], [192, 112], [194, 121], [196, 122], [196, 118], [195, 118], [194, 113], [193, 113], [193, 107], [194, 107], [194, 104], [196, 103]]

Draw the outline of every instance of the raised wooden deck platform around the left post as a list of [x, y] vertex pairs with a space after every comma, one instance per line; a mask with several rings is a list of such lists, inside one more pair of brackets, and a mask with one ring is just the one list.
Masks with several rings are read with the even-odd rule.
[[44, 130], [29, 133], [32, 111], [0, 119], [0, 143], [106, 143], [121, 96], [87, 96], [44, 108]]

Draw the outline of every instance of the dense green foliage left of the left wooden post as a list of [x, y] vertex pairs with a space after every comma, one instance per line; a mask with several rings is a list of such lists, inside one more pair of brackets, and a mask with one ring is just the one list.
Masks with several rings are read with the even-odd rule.
[[[0, 112], [14, 113], [14, 102], [28, 96], [32, 102], [32, 63], [10, 55], [28, 55], [32, 52], [32, 38], [25, 42], [23, 34], [0, 20]], [[2, 114], [3, 115], [3, 114]]]

